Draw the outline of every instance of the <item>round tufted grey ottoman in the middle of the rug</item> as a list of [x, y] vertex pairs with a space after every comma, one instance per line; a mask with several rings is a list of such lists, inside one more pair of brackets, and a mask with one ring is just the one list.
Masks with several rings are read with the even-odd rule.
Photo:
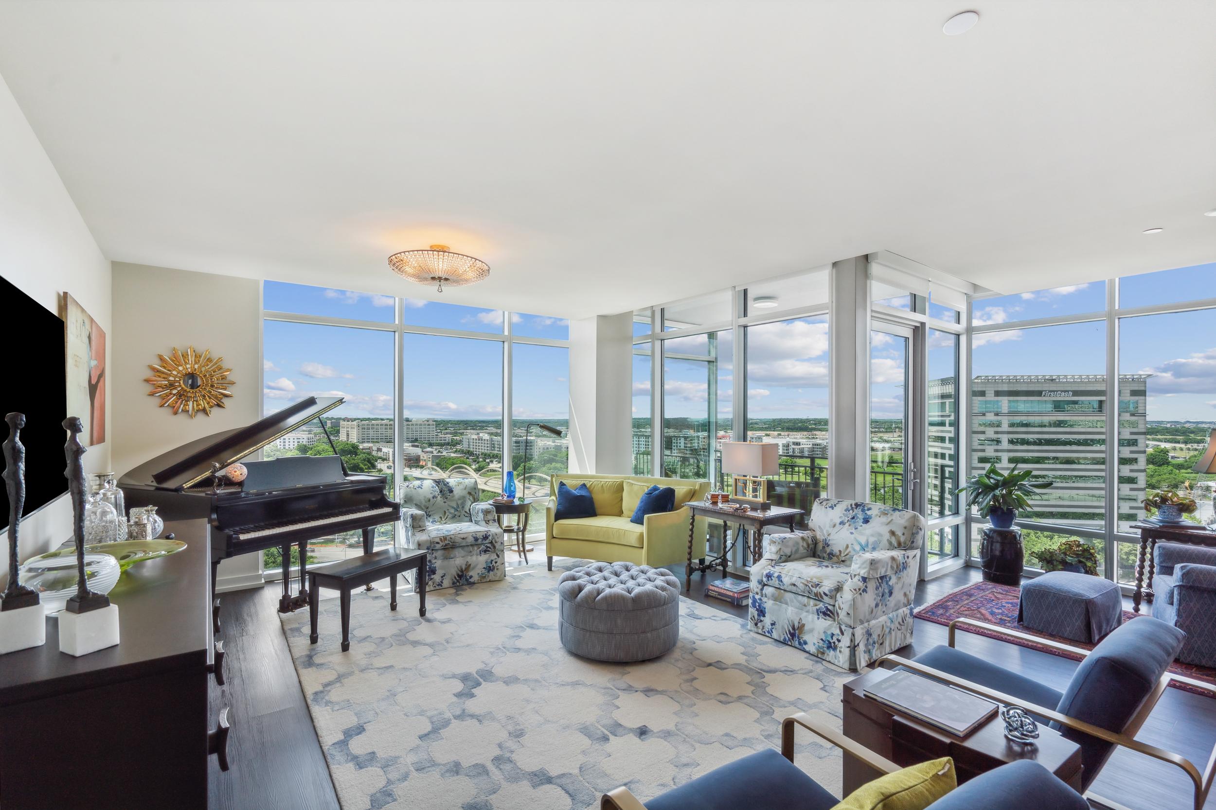
[[680, 580], [666, 568], [593, 562], [557, 580], [562, 646], [596, 661], [646, 661], [680, 640]]

